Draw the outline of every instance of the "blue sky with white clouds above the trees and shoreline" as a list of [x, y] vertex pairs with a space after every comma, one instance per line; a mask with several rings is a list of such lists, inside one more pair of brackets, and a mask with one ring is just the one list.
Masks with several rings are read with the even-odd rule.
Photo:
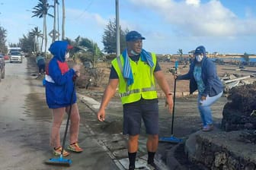
[[[53, 0], [48, 2], [53, 5]], [[43, 32], [43, 19], [31, 17], [37, 3], [0, 0], [0, 26], [7, 30], [7, 43], [18, 42], [34, 27]], [[103, 49], [102, 36], [116, 18], [115, 5], [116, 0], [66, 0], [66, 37], [82, 36]], [[182, 49], [187, 54], [203, 45], [210, 53], [256, 54], [256, 0], [119, 0], [119, 17], [122, 30], [146, 37], [143, 49], [149, 52], [177, 54]], [[53, 18], [47, 17], [47, 32], [51, 30]]]

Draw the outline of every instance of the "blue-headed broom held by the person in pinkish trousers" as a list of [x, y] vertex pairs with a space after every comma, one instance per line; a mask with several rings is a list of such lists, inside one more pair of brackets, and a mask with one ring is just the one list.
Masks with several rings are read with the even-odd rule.
[[70, 119], [71, 110], [72, 110], [73, 95], [74, 95], [74, 92], [75, 92], [75, 80], [76, 80], [76, 75], [73, 77], [74, 87], [73, 87], [73, 90], [72, 90], [72, 96], [71, 96], [70, 107], [69, 107], [69, 114], [68, 114], [68, 118], [67, 118], [64, 138], [63, 138], [63, 142], [62, 142], [62, 151], [60, 153], [59, 158], [51, 158], [51, 159], [46, 160], [45, 163], [47, 165], [70, 166], [72, 164], [71, 159], [64, 159], [63, 158], [63, 151], [64, 151], [64, 147], [65, 147], [65, 143], [66, 143], [66, 134], [67, 134], [68, 128], [69, 128], [69, 119]]

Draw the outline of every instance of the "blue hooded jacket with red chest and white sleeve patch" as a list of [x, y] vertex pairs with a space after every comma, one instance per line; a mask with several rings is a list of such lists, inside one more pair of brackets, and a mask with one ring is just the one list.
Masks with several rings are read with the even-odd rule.
[[50, 109], [66, 107], [76, 102], [73, 83], [75, 71], [69, 69], [65, 61], [67, 49], [66, 41], [53, 42], [49, 49], [53, 54], [46, 71], [46, 102]]

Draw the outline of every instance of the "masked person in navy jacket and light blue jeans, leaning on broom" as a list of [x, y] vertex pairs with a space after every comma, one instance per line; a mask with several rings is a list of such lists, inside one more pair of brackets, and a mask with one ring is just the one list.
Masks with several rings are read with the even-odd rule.
[[204, 46], [194, 52], [194, 61], [187, 74], [174, 75], [177, 80], [190, 80], [190, 94], [198, 90], [197, 105], [203, 121], [203, 131], [213, 130], [213, 117], [210, 106], [223, 93], [223, 85], [216, 71], [216, 65], [206, 57]]

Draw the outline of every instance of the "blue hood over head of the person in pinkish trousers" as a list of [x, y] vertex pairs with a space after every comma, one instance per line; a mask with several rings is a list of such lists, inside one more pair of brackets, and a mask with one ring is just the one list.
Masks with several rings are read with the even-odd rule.
[[65, 61], [65, 55], [67, 49], [71, 49], [68, 42], [66, 41], [55, 41], [50, 45], [49, 51], [57, 58], [59, 61]]

